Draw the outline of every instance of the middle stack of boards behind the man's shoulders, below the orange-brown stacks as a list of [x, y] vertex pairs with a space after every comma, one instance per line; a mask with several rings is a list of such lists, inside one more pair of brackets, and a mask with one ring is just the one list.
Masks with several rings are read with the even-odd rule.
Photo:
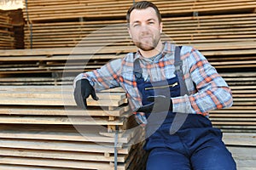
[[[193, 47], [200, 49], [221, 72], [256, 66], [256, 42], [253, 41], [195, 43]], [[5, 85], [70, 83], [68, 77], [100, 68], [108, 60], [119, 59], [136, 50], [134, 46], [0, 50], [0, 74], [3, 77], [0, 81]]]

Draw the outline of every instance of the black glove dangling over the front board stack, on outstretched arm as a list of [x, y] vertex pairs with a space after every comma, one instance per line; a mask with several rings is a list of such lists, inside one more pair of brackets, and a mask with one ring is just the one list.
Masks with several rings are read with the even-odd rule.
[[86, 99], [91, 95], [92, 99], [98, 100], [96, 96], [95, 89], [90, 85], [87, 79], [81, 79], [76, 82], [76, 88], [74, 89], [73, 96], [77, 105], [86, 109], [87, 102]]

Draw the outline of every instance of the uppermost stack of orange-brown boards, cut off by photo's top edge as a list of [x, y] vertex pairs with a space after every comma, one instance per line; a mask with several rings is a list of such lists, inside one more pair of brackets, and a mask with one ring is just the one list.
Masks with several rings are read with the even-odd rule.
[[[157, 1], [153, 0], [160, 8], [163, 15], [184, 15], [214, 13], [227, 14], [229, 12], [253, 11], [256, 2], [253, 0], [173, 0]], [[64, 19], [89, 19], [97, 18], [125, 18], [127, 9], [132, 1], [108, 1], [108, 0], [27, 0], [26, 8], [23, 9], [25, 19], [30, 23], [45, 22], [45, 20], [64, 20]], [[110, 11], [110, 12], [109, 12]]]

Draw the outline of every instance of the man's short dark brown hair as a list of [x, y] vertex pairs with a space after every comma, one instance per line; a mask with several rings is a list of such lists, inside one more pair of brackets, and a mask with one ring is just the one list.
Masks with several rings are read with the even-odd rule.
[[137, 2], [137, 3], [134, 3], [131, 8], [128, 9], [127, 11], [127, 14], [126, 14], [126, 20], [127, 20], [127, 23], [129, 24], [130, 23], [130, 15], [131, 15], [131, 11], [133, 9], [145, 9], [145, 8], [148, 8], [148, 7], [151, 7], [151, 8], [154, 8], [154, 11], [157, 15], [157, 18], [159, 20], [159, 22], [162, 21], [162, 18], [161, 18], [161, 14], [160, 14], [160, 11], [159, 9], [154, 5], [154, 3], [151, 3], [149, 1], [140, 1], [140, 2]]

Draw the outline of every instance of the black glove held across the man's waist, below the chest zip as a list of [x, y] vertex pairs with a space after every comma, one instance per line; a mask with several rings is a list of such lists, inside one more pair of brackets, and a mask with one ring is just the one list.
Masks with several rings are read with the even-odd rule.
[[138, 108], [136, 112], [151, 113], [152, 111], [172, 111], [172, 99], [168, 99], [164, 95], [148, 96], [147, 100], [152, 103], [143, 105]]

